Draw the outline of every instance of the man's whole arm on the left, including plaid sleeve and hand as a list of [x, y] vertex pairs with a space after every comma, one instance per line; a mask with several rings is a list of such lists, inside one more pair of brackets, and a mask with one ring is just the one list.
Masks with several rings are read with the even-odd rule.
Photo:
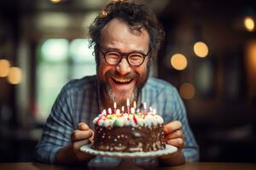
[[[73, 125], [73, 96], [68, 89], [68, 84], [62, 88], [61, 94], [55, 100], [55, 104], [44, 125], [44, 131], [35, 149], [35, 158], [45, 163], [72, 163], [79, 161], [78, 148], [91, 133], [89, 127], [77, 127]], [[80, 132], [83, 130], [83, 132]], [[78, 135], [81, 134], [81, 135]], [[73, 136], [73, 139], [72, 139]], [[82, 137], [81, 137], [82, 136]], [[85, 137], [83, 137], [85, 136]], [[85, 153], [84, 153], [85, 154]], [[84, 156], [87, 158], [86, 156]], [[84, 158], [84, 159], [85, 159]], [[87, 160], [88, 161], [88, 160]]]

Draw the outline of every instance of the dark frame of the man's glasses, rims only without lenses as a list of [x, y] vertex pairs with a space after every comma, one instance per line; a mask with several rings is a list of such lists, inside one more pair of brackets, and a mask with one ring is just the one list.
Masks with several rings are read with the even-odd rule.
[[[120, 53], [119, 51], [116, 51], [116, 50], [108, 50], [108, 51], [106, 51], [106, 52], [102, 52], [102, 48], [101, 48], [101, 47], [99, 47], [99, 51], [100, 51], [100, 52], [102, 53], [102, 55], [104, 56], [104, 59], [105, 59], [106, 63], [108, 63], [108, 60], [106, 59], [106, 54], [108, 54], [108, 53], [110, 53], [110, 52], [114, 52], [114, 53], [119, 54], [119, 56], [120, 56], [119, 62], [117, 62], [117, 64], [109, 64], [109, 63], [108, 63], [108, 65], [119, 65], [119, 63], [121, 62], [121, 60], [122, 60], [124, 57], [125, 57], [127, 63], [128, 63], [129, 65], [131, 65], [131, 63], [130, 63], [130, 61], [129, 61], [129, 59], [128, 59], [131, 54], [141, 54], [141, 55], [143, 56], [143, 61], [142, 61], [142, 63], [141, 63], [140, 65], [143, 65], [145, 58], [148, 56], [148, 54], [149, 54], [150, 51], [151, 51], [151, 48], [148, 49], [148, 53], [147, 53], [147, 54], [143, 54], [143, 53], [141, 53], [141, 52]], [[131, 65], [131, 66], [140, 66], [140, 65]]]

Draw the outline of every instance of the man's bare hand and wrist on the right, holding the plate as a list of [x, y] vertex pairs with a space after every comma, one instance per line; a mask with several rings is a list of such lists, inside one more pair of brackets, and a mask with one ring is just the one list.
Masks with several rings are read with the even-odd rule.
[[172, 144], [177, 147], [177, 152], [160, 156], [160, 162], [167, 165], [178, 165], [185, 162], [182, 149], [184, 147], [184, 136], [182, 123], [178, 121], [169, 122], [164, 126], [166, 144]]

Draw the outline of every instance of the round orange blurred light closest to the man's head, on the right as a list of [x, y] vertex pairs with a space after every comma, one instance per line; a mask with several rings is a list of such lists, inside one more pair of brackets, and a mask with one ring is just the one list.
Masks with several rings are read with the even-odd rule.
[[183, 71], [188, 65], [188, 60], [183, 54], [173, 54], [171, 57], [171, 65], [176, 70]]

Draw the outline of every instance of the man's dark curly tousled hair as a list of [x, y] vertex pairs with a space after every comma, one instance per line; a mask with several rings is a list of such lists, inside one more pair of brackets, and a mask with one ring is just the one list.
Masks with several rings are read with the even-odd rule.
[[150, 37], [149, 48], [151, 49], [149, 56], [151, 59], [155, 59], [164, 41], [165, 31], [155, 15], [145, 5], [125, 0], [108, 3], [89, 27], [90, 47], [94, 46], [95, 48], [96, 64], [99, 63], [97, 53], [102, 28], [115, 18], [125, 21], [131, 29], [141, 31], [142, 28], [145, 28], [148, 31]]

